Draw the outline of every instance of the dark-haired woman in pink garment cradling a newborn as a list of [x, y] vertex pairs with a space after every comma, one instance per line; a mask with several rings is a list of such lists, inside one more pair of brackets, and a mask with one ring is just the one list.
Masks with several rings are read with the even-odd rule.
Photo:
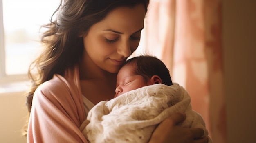
[[[27, 97], [29, 143], [87, 142], [79, 127], [95, 104], [115, 95], [117, 72], [139, 45], [148, 3], [61, 2], [56, 20], [46, 25], [45, 49], [29, 70], [33, 83]], [[163, 121], [150, 142], [206, 143], [205, 138], [194, 140], [203, 135], [202, 129], [176, 126], [184, 119], [185, 115], [175, 114]]]

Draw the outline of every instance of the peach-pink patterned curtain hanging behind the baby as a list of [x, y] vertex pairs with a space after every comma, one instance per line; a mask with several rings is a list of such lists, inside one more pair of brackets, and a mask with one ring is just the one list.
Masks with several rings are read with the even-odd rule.
[[162, 59], [184, 86], [215, 143], [226, 142], [221, 0], [151, 0], [146, 53]]

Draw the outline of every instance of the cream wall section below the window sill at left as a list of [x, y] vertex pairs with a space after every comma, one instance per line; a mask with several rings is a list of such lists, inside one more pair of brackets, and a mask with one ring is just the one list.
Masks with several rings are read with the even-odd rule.
[[0, 143], [26, 143], [21, 135], [27, 119], [23, 93], [0, 93]]

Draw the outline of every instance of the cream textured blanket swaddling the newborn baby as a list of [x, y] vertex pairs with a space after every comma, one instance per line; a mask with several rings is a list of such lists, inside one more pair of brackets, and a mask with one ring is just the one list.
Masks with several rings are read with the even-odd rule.
[[191, 109], [190, 101], [186, 90], [177, 83], [145, 86], [99, 102], [80, 130], [90, 143], [146, 143], [157, 124], [175, 112], [185, 112], [187, 118], [182, 126], [203, 128], [207, 136], [204, 120]]

